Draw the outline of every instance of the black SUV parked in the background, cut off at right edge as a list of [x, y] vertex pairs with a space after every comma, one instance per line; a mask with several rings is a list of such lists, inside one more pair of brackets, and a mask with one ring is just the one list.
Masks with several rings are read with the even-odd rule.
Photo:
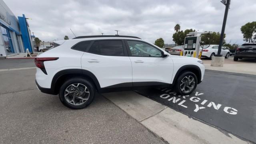
[[256, 43], [245, 43], [236, 48], [234, 61], [242, 58], [256, 58]]

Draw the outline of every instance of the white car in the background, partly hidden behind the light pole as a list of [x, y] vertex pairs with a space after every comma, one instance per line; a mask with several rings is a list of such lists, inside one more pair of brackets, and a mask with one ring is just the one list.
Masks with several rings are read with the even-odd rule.
[[[202, 58], [210, 58], [212, 59], [212, 56], [218, 53], [218, 45], [209, 45], [204, 46], [204, 48], [201, 49], [202, 51]], [[230, 56], [230, 51], [228, 49], [225, 49], [222, 47], [220, 54], [222, 56], [225, 56], [225, 58], [228, 58]]]

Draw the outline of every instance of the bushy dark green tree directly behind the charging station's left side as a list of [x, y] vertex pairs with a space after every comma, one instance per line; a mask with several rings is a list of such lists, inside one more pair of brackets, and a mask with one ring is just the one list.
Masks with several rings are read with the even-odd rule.
[[174, 41], [175, 44], [177, 44], [177, 45], [183, 45], [186, 35], [187, 35], [189, 32], [195, 32], [195, 31], [196, 31], [196, 30], [193, 30], [193, 29], [186, 29], [184, 32], [183, 32], [183, 30], [182, 30], [182, 31], [175, 32], [175, 33], [172, 35], [172, 38], [173, 38], [172, 41]]

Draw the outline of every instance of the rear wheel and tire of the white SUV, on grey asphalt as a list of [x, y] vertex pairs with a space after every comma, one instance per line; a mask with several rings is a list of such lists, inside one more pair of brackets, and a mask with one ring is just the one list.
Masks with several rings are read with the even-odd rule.
[[84, 78], [71, 78], [67, 80], [62, 84], [59, 92], [62, 104], [72, 109], [81, 109], [90, 105], [94, 95], [94, 85]]

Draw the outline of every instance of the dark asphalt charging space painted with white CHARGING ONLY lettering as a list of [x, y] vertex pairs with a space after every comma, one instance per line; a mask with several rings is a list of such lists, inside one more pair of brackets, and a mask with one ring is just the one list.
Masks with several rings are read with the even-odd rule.
[[191, 118], [256, 143], [256, 75], [206, 70], [187, 96], [170, 89], [137, 91]]

